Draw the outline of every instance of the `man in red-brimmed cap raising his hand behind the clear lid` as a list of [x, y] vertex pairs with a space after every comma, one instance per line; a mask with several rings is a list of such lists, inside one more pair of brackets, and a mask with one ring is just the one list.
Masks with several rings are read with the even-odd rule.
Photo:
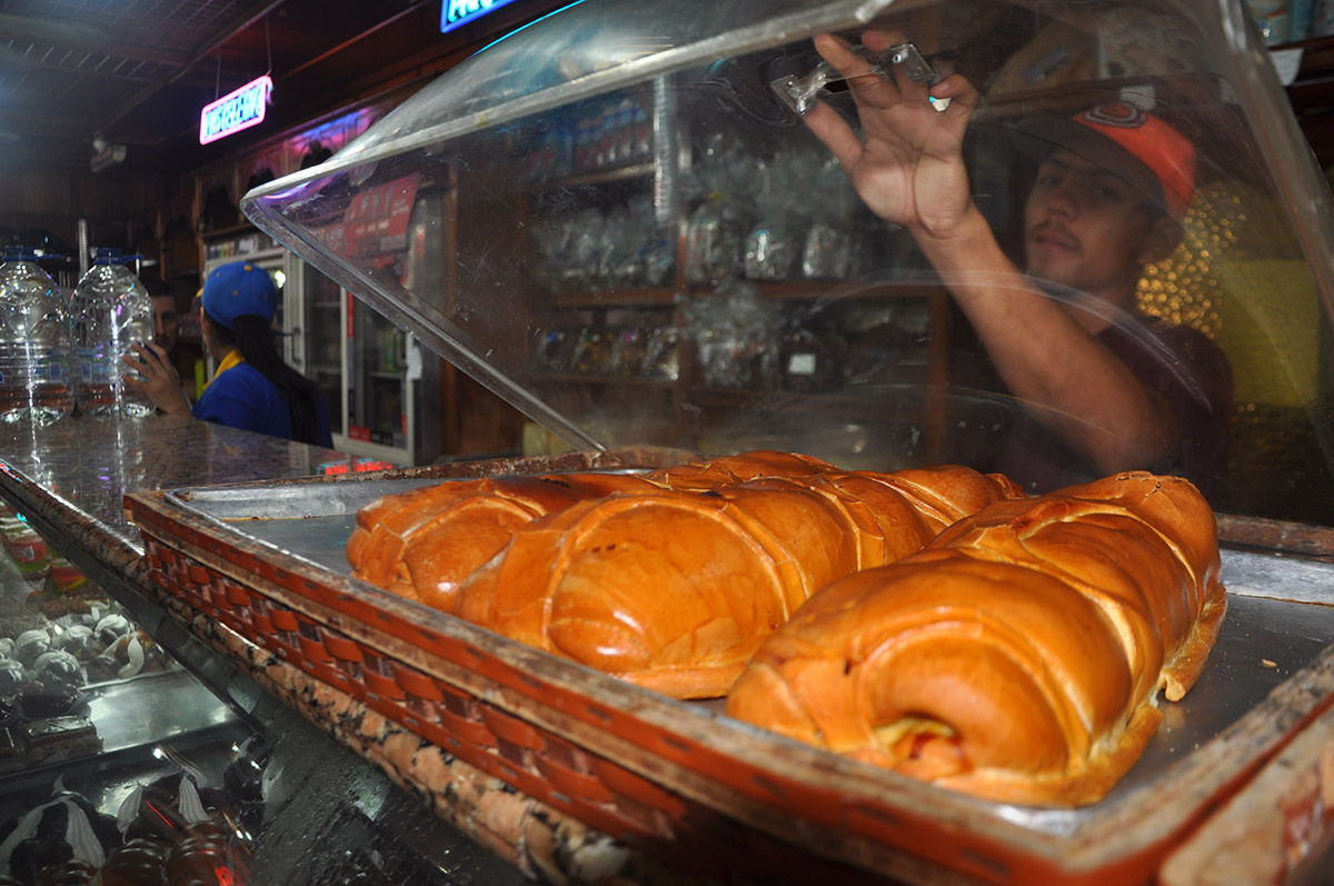
[[[899, 35], [871, 31], [883, 52]], [[848, 80], [860, 132], [827, 104], [806, 124], [867, 207], [907, 228], [1026, 408], [998, 470], [1030, 491], [1129, 468], [1211, 486], [1226, 464], [1231, 375], [1203, 335], [1135, 308], [1143, 267], [1181, 242], [1194, 196], [1191, 141], [1115, 103], [1033, 127], [1054, 147], [1025, 204], [1026, 267], [1005, 254], [968, 185], [963, 136], [978, 92], [882, 76], [847, 43], [816, 49]]]

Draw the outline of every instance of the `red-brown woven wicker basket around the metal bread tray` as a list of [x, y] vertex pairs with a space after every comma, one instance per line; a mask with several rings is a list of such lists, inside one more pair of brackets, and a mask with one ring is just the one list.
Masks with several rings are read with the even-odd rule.
[[[1291, 698], [1266, 699], [1130, 798], [1070, 819], [1074, 827], [1041, 829], [730, 721], [716, 705], [656, 695], [403, 600], [275, 550], [244, 523], [215, 520], [180, 496], [125, 502], [153, 583], [189, 608], [420, 742], [628, 846], [723, 879], [1149, 882], [1202, 810], [1286, 741], [1301, 719], [1294, 710], [1313, 695], [1334, 697], [1326, 651]], [[447, 805], [443, 786], [415, 778], [412, 750], [390, 754], [398, 775]]]

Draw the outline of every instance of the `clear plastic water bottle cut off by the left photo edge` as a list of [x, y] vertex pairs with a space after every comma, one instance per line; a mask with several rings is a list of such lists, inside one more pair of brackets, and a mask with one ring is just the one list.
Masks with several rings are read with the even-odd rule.
[[49, 424], [73, 410], [69, 331], [55, 280], [31, 248], [0, 264], [0, 422]]

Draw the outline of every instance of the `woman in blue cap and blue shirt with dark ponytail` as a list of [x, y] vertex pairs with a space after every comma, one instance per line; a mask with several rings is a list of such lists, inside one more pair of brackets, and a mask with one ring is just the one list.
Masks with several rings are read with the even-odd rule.
[[161, 411], [332, 447], [328, 408], [315, 383], [283, 363], [273, 347], [277, 288], [263, 268], [233, 262], [204, 279], [200, 327], [217, 362], [213, 379], [191, 408], [167, 352], [152, 343], [133, 344], [125, 362], [141, 376], [125, 383], [141, 390]]

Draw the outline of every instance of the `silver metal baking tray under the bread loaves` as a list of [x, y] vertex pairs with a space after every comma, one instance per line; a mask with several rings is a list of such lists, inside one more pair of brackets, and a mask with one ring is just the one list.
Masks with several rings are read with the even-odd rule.
[[[440, 482], [367, 478], [328, 486], [297, 482], [181, 488], [167, 492], [167, 499], [277, 555], [347, 576], [351, 568], [346, 544], [358, 510], [380, 495]], [[1107, 815], [1109, 809], [1133, 805], [1141, 787], [1165, 778], [1271, 693], [1317, 667], [1322, 652], [1334, 650], [1334, 564], [1225, 547], [1222, 570], [1229, 591], [1227, 618], [1209, 664], [1183, 701], [1162, 702], [1163, 727], [1125, 779], [1094, 806], [1049, 810], [979, 802], [987, 814], [1051, 835], [1078, 834], [1087, 822]], [[666, 701], [699, 717], [727, 719], [720, 701]]]

